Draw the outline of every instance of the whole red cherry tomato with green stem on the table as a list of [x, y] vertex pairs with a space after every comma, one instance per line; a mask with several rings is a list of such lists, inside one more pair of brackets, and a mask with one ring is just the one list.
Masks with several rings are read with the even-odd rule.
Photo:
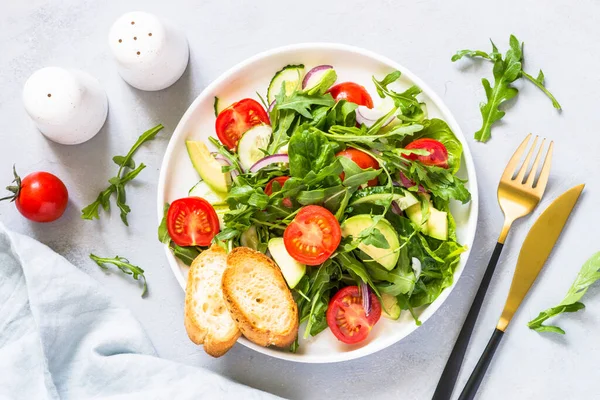
[[15, 171], [15, 185], [9, 186], [14, 195], [2, 200], [12, 200], [25, 218], [35, 222], [52, 222], [60, 218], [67, 208], [69, 192], [65, 184], [49, 172], [34, 172], [23, 180]]

